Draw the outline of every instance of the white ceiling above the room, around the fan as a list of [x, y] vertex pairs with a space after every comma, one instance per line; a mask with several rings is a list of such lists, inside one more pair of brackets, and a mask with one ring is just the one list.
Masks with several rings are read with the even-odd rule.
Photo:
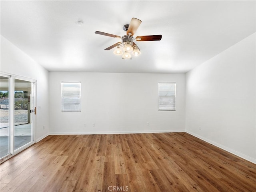
[[[1, 1], [1, 35], [49, 71], [183, 73], [253, 34], [255, 1]], [[141, 55], [104, 50], [132, 17]], [[84, 24], [78, 26], [77, 22]]]

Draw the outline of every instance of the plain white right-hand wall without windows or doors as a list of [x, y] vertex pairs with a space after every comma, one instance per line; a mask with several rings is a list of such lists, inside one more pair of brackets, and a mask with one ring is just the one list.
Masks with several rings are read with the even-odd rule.
[[186, 74], [186, 131], [254, 163], [255, 41], [254, 33]]

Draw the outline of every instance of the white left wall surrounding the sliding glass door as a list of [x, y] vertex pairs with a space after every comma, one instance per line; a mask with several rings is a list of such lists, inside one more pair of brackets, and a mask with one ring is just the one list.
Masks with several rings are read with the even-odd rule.
[[[37, 80], [36, 105], [41, 106], [36, 114], [36, 141], [49, 132], [48, 76], [49, 72], [1, 36], [0, 71]], [[45, 129], [43, 129], [43, 126]]]

